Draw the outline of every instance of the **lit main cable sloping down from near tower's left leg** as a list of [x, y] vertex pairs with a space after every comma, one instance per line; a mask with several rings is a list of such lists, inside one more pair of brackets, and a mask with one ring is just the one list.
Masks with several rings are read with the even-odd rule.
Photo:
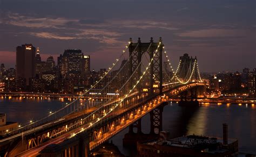
[[[109, 74], [109, 72], [117, 65], [117, 63], [119, 62], [120, 58], [122, 58], [122, 56], [124, 56], [126, 50], [127, 50], [128, 47], [130, 46], [130, 44], [131, 44], [131, 41], [128, 42], [128, 44], [125, 46], [125, 49], [123, 50], [123, 53], [119, 56], [118, 59], [116, 59], [116, 61], [115, 61], [115, 62], [112, 64], [112, 66], [107, 70], [107, 72], [105, 72], [104, 76], [103, 76], [102, 78], [100, 78], [100, 80], [97, 81], [94, 85], [92, 85], [89, 90], [85, 90], [85, 92], [84, 92], [83, 95], [78, 96], [77, 99], [75, 99], [74, 101], [72, 101], [72, 102], [69, 103], [69, 104], [66, 104], [63, 108], [61, 108], [61, 109], [59, 109], [59, 110], [57, 110], [57, 111], [55, 111], [55, 112], [51, 112], [50, 115], [48, 115], [48, 116], [46, 116], [46, 117], [43, 117], [43, 118], [41, 118], [41, 119], [38, 119], [38, 120], [36, 120], [36, 121], [34, 121], [34, 122], [32, 122], [32, 123], [29, 123], [28, 125], [23, 125], [22, 127], [19, 127], [17, 130], [11, 131], [11, 132], [9, 132], [8, 134], [12, 134], [12, 133], [16, 133], [16, 132], [24, 132], [23, 130], [28, 130], [29, 127], [32, 127], [32, 125], [38, 126], [38, 125], [40, 125], [40, 124], [38, 124], [39, 122], [42, 122], [43, 120], [46, 120], [46, 119], [49, 118], [49, 117], [53, 117], [53, 115], [56, 115], [58, 112], [63, 111], [64, 109], [68, 108], [70, 105], [72, 105], [73, 103], [75, 103], [76, 101], [78, 101], [81, 97], [83, 97], [85, 94], [87, 94], [87, 92], [89, 92], [89, 91], [92, 90], [94, 87], [96, 87], [96, 85], [97, 85], [101, 80], [103, 80], [104, 77], [105, 77], [107, 74]], [[50, 119], [50, 120], [52, 121], [52, 119]], [[42, 122], [42, 123], [44, 124], [44, 123], [46, 123], [46, 122], [49, 122], [49, 121], [44, 121], [44, 122]]]

